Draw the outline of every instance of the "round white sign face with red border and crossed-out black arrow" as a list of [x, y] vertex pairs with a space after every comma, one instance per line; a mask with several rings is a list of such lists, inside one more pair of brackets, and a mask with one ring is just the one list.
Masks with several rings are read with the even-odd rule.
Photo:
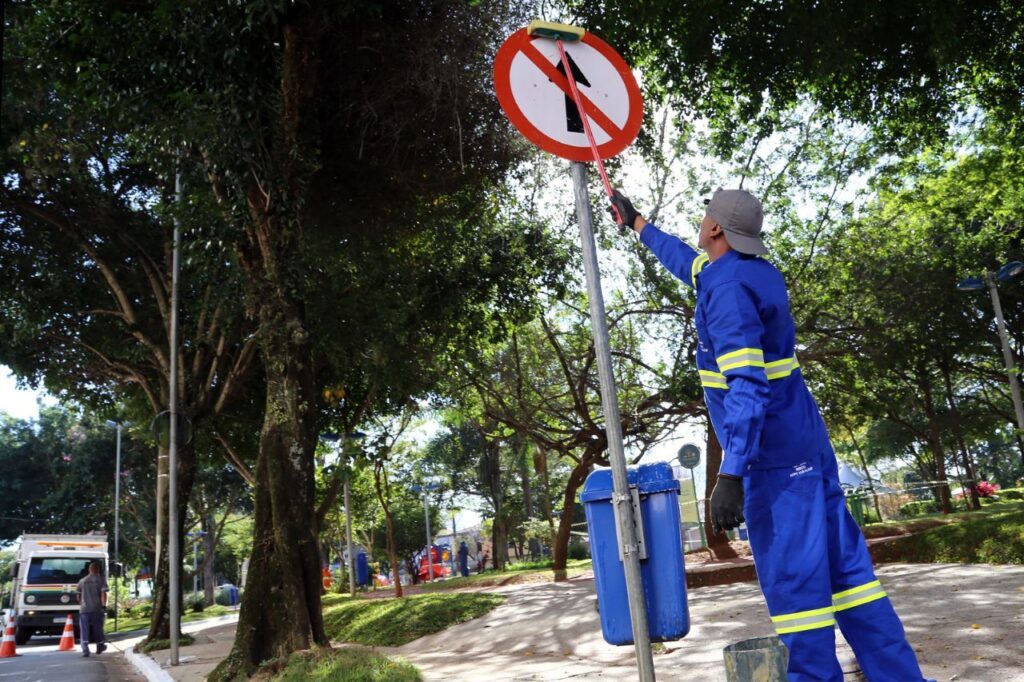
[[[613, 157], [636, 139], [643, 120], [633, 72], [593, 34], [564, 48], [597, 151], [602, 159]], [[564, 159], [593, 159], [555, 41], [530, 36], [526, 29], [512, 34], [495, 58], [495, 89], [505, 114], [526, 139]]]

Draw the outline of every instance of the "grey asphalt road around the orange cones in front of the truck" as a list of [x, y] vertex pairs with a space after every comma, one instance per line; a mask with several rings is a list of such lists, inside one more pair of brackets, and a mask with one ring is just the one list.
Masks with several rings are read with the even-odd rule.
[[139, 682], [124, 655], [108, 648], [102, 655], [82, 657], [82, 649], [57, 651], [58, 637], [33, 637], [17, 647], [18, 656], [0, 658], [0, 682]]

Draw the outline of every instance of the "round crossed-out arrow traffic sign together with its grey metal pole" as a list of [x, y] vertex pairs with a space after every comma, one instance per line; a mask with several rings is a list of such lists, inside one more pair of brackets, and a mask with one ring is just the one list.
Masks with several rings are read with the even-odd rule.
[[[586, 92], [581, 90], [586, 87]], [[572, 162], [580, 237], [583, 243], [590, 318], [601, 382], [611, 463], [612, 505], [618, 551], [626, 573], [626, 591], [641, 682], [654, 680], [647, 604], [640, 573], [633, 496], [626, 470], [623, 428], [618, 415], [611, 348], [605, 319], [601, 272], [587, 191], [587, 166], [594, 161], [611, 197], [602, 159], [629, 146], [643, 120], [640, 88], [629, 65], [607, 43], [579, 27], [534, 22], [510, 36], [495, 56], [495, 91], [509, 121], [526, 139]], [[596, 125], [592, 128], [591, 121]], [[642, 532], [642, 529], [641, 529]]]

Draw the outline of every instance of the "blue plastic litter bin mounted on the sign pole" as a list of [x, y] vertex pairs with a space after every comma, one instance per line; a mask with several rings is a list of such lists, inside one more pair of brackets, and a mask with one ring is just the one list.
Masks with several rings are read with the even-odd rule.
[[[630, 485], [639, 492], [643, 516], [647, 558], [641, 559], [640, 570], [650, 639], [680, 639], [690, 631], [690, 615], [680, 541], [679, 481], [667, 462], [631, 467], [628, 474]], [[587, 512], [601, 632], [609, 644], [625, 645], [633, 643], [633, 627], [611, 492], [611, 470], [598, 469], [587, 477], [580, 501]]]

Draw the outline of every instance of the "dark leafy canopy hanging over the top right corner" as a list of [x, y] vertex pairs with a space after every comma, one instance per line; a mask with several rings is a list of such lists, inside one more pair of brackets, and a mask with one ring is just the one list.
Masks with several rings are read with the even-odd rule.
[[652, 94], [709, 116], [723, 147], [741, 139], [736, 124], [770, 131], [804, 95], [904, 146], [944, 137], [976, 105], [1011, 123], [1024, 101], [1024, 12], [1004, 0], [567, 4]]

